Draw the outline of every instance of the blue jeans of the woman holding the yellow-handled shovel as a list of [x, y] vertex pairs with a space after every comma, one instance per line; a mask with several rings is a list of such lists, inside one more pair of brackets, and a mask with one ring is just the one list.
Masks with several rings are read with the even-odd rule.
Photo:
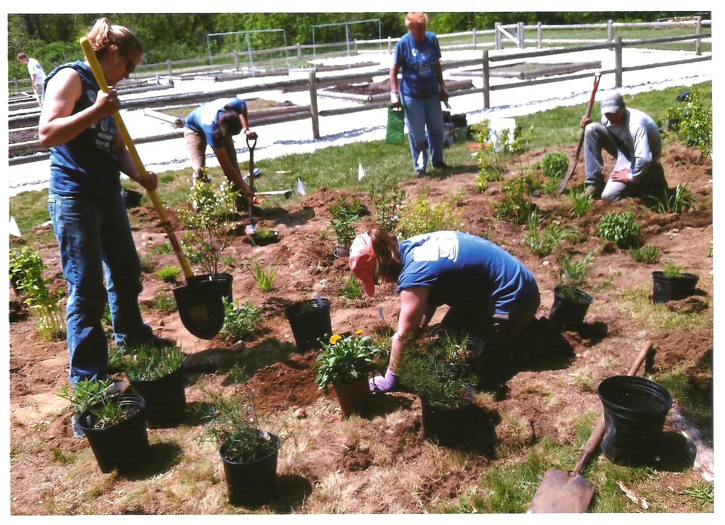
[[49, 191], [48, 211], [68, 283], [70, 382], [101, 379], [108, 364], [101, 324], [107, 301], [117, 344], [143, 343], [154, 335], [138, 308], [141, 264], [123, 196], [64, 197]]

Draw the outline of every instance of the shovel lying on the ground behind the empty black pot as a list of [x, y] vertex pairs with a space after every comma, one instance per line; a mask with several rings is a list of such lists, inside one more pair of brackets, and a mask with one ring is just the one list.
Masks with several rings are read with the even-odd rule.
[[[645, 361], [647, 353], [652, 349], [652, 342], [646, 341], [640, 350], [639, 355], [634, 360], [631, 368], [627, 372], [628, 376], [637, 374], [637, 369], [642, 361]], [[597, 425], [592, 430], [589, 440], [584, 443], [581, 448], [579, 460], [576, 461], [574, 469], [566, 470], [547, 470], [544, 474], [534, 499], [531, 500], [529, 513], [584, 513], [589, 508], [592, 496], [595, 492], [595, 484], [581, 477], [579, 472], [587, 464], [589, 458], [592, 457], [595, 448], [602, 440], [605, 431], [604, 416], [600, 418]]]

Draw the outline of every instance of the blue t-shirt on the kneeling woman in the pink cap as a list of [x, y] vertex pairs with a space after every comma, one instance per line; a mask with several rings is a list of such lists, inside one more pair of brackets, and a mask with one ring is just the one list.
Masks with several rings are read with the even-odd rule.
[[428, 304], [511, 314], [539, 287], [528, 268], [499, 245], [463, 232], [433, 232], [398, 243], [398, 291], [427, 286]]

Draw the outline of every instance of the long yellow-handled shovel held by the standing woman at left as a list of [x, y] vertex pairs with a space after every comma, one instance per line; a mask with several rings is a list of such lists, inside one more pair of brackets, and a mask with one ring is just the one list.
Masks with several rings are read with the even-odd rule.
[[[88, 38], [80, 38], [80, 47], [83, 48], [83, 53], [86, 54], [86, 59], [88, 59], [88, 64], [91, 66], [94, 77], [96, 77], [96, 82], [104, 92], [107, 92], [108, 84], [106, 83], [106, 77], [103, 74], [103, 70], [101, 70], [101, 64], [99, 64], [96, 52], [91, 47], [91, 42], [88, 41]], [[128, 130], [126, 130], [123, 119], [121, 119], [118, 112], [115, 112], [112, 116], [116, 121], [123, 142], [126, 148], [128, 148], [131, 159], [136, 164], [138, 173], [141, 177], [146, 177], [146, 167], [144, 167], [136, 152], [136, 146], [134, 146], [133, 140], [131, 140]], [[148, 193], [156, 207], [161, 224], [169, 238], [169, 242], [174, 248], [179, 264], [181, 265], [181, 270], [186, 278], [186, 286], [181, 286], [174, 290], [181, 322], [192, 335], [200, 339], [212, 339], [219, 333], [224, 324], [224, 303], [222, 301], [224, 290], [222, 287], [218, 287], [214, 281], [193, 280], [194, 274], [191, 272], [188, 259], [186, 259], [186, 256], [181, 250], [181, 244], [171, 227], [162, 202], [159, 200], [155, 190], [148, 190]], [[189, 301], [180, 301], [180, 294], [190, 295], [194, 297], [194, 301], [191, 301], [191, 303]]]

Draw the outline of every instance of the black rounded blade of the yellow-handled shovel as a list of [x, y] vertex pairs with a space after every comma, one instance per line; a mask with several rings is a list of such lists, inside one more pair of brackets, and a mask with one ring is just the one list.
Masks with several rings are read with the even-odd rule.
[[184, 327], [199, 339], [213, 339], [224, 324], [223, 289], [217, 282], [191, 282], [174, 289]]

